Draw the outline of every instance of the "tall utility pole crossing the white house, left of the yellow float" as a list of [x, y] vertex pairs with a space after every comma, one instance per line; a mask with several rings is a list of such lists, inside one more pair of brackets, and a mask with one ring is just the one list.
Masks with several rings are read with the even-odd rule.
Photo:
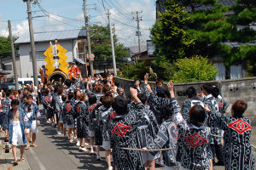
[[38, 87], [38, 65], [37, 65], [37, 59], [36, 59], [36, 49], [35, 49], [33, 26], [32, 26], [32, 14], [31, 14], [32, 12], [31, 12], [30, 0], [23, 0], [23, 2], [26, 2], [26, 6], [27, 6], [30, 45], [31, 45], [31, 51], [32, 51], [31, 54], [32, 54], [34, 84], [35, 86]]

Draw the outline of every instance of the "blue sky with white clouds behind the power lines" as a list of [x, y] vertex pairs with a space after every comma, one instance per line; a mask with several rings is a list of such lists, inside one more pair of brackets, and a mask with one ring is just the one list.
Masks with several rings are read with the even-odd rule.
[[[149, 39], [148, 28], [155, 20], [154, 0], [103, 0], [103, 2], [105, 9], [110, 9], [112, 24], [115, 26], [119, 42], [124, 43], [125, 46], [137, 45], [135, 36], [137, 22], [133, 19], [136, 14], [131, 13], [142, 12], [140, 14], [143, 18], [140, 22], [142, 43], [146, 44], [146, 40]], [[83, 0], [40, 0], [40, 7], [32, 4], [34, 32], [79, 29], [84, 26], [82, 4]], [[88, 10], [90, 24], [107, 26], [108, 18], [102, 0], [87, 0], [87, 4], [87, 8], [93, 8]], [[47, 16], [41, 9], [46, 11]], [[7, 20], [12, 22], [14, 35], [27, 34], [26, 17], [26, 3], [22, 0], [0, 0], [0, 36], [7, 36], [9, 33]]]

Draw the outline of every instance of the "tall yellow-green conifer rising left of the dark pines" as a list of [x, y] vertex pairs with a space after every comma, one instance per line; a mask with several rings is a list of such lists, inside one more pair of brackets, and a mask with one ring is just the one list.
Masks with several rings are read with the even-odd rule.
[[166, 80], [172, 77], [172, 62], [181, 59], [194, 40], [188, 38], [188, 32], [184, 26], [189, 17], [184, 17], [184, 7], [179, 6], [174, 0], [165, 3], [166, 13], [160, 14], [151, 29], [151, 39], [155, 45], [154, 54], [157, 56], [152, 62], [152, 68], [157, 76]]

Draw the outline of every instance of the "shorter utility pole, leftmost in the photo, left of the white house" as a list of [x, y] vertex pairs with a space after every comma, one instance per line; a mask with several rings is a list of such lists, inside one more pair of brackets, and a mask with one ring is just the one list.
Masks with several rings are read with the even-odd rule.
[[14, 42], [13, 42], [13, 33], [12, 33], [12, 26], [11, 26], [10, 20], [8, 20], [8, 27], [9, 27], [9, 41], [10, 41], [10, 44], [11, 44], [13, 68], [14, 68], [14, 76], [15, 76], [15, 89], [19, 90], [16, 59], [15, 59], [15, 46], [14, 46]]

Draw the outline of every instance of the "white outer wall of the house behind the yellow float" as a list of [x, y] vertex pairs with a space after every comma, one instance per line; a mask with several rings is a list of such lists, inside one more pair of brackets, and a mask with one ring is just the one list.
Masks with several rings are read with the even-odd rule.
[[[74, 57], [78, 57], [78, 43], [77, 40], [66, 40], [61, 41], [59, 40], [60, 45], [67, 49], [67, 62], [73, 61]], [[36, 42], [35, 43], [36, 52], [37, 51], [46, 51], [49, 48], [49, 42]], [[26, 78], [29, 73], [29, 77], [32, 77], [33, 70], [32, 70], [32, 61], [30, 60], [30, 51], [31, 46], [29, 43], [26, 44], [19, 44], [20, 48], [20, 67], [21, 67], [21, 77]], [[37, 60], [38, 68], [42, 67], [42, 65], [46, 65], [44, 59]], [[38, 73], [39, 75], [39, 73]]]

